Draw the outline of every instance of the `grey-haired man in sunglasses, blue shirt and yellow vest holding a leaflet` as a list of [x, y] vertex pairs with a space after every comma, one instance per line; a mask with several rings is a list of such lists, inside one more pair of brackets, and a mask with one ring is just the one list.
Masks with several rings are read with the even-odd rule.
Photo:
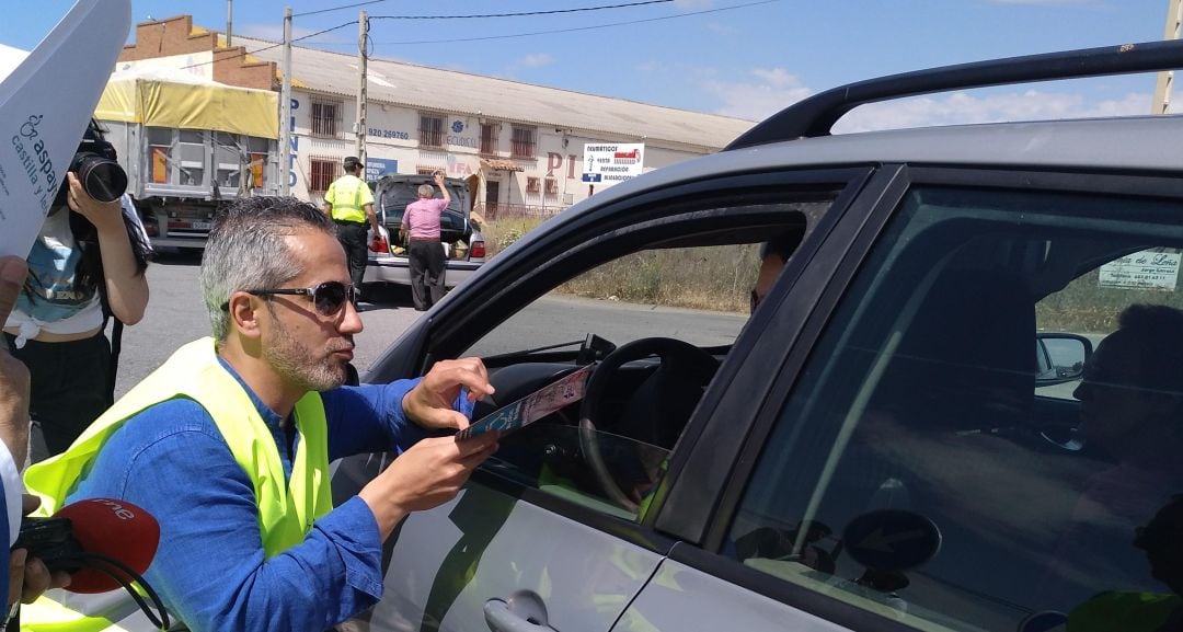
[[[177, 350], [26, 483], [49, 511], [103, 497], [155, 516], [144, 576], [189, 630], [323, 631], [377, 602], [382, 541], [402, 518], [451, 499], [496, 450], [496, 437], [452, 436], [492, 386], [478, 359], [342, 386], [362, 330], [345, 253], [332, 221], [291, 198], [215, 218], [201, 291], [213, 338]], [[387, 450], [400, 456], [334, 509], [329, 463]], [[101, 612], [123, 627], [142, 617]]]

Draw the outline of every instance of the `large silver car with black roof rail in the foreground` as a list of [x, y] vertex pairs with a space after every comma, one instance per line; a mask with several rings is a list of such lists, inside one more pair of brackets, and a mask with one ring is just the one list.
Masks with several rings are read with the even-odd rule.
[[[1163, 625], [1183, 573], [1169, 522], [1183, 515], [1183, 327], [1145, 338], [1144, 373], [1163, 381], [1130, 386], [1095, 360], [1131, 305], [1183, 307], [1183, 118], [830, 128], [888, 98], [1174, 67], [1183, 43], [842, 86], [526, 234], [364, 376], [477, 355], [497, 392], [476, 417], [532, 423], [400, 525], [357, 625]], [[795, 249], [750, 316], [653, 298], [746, 292], [775, 236]], [[726, 273], [690, 273], [700, 262]], [[644, 291], [573, 290], [625, 280]], [[589, 367], [571, 399], [545, 391]], [[341, 462], [335, 491], [390, 458]]]

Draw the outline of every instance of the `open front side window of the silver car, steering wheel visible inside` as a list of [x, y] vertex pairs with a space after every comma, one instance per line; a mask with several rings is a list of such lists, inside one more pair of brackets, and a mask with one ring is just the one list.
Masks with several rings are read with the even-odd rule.
[[[788, 231], [797, 243], [829, 204], [778, 204], [768, 211], [780, 213], [782, 225], [763, 217], [745, 226], [737, 218], [722, 232], [712, 224], [698, 241], [680, 232], [690, 228], [670, 223], [649, 246], [631, 244], [615, 256], [620, 246], [610, 243], [588, 246], [597, 262], [570, 270], [463, 354], [485, 359], [496, 406], [596, 365], [588, 396], [503, 437], [484, 467], [596, 511], [636, 518], [748, 322], [759, 267], [755, 240]], [[621, 357], [614, 349], [632, 355], [605, 368]], [[474, 417], [496, 406], [480, 402]]]

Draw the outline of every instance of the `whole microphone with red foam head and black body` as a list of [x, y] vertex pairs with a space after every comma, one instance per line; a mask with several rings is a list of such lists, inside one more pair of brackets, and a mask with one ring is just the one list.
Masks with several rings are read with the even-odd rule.
[[143, 598], [131, 587], [138, 583], [167, 627], [163, 604], [141, 576], [151, 565], [157, 544], [160, 523], [151, 514], [127, 501], [88, 498], [47, 518], [24, 518], [13, 548], [28, 549], [30, 557], [40, 559], [50, 572], [70, 573], [65, 589], [72, 593], [105, 593], [123, 587], [156, 624]]

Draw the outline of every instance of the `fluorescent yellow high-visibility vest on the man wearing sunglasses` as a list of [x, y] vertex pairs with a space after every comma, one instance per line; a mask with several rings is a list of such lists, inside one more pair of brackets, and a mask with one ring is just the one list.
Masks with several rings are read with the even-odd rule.
[[[177, 349], [91, 424], [64, 453], [28, 467], [25, 485], [41, 497], [38, 512], [51, 515], [63, 505], [103, 444], [128, 419], [174, 398], [192, 399], [209, 413], [234, 460], [251, 479], [267, 559], [303, 542], [312, 522], [332, 509], [328, 424], [319, 393], [308, 393], [296, 402], [299, 447], [292, 460], [291, 478], [286, 479], [270, 428], [243, 386], [218, 362], [214, 341], [207, 337]], [[153, 627], [122, 589], [97, 595], [54, 589], [21, 608], [21, 630], [130, 632]]]

